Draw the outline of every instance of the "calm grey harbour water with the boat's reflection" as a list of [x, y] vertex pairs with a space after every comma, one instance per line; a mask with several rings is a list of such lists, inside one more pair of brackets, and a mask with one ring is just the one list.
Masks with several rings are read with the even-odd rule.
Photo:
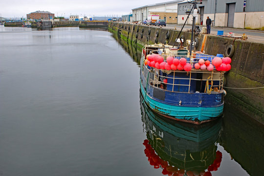
[[139, 56], [108, 31], [0, 26], [0, 176], [264, 174], [262, 126], [229, 105], [201, 127], [158, 117]]

